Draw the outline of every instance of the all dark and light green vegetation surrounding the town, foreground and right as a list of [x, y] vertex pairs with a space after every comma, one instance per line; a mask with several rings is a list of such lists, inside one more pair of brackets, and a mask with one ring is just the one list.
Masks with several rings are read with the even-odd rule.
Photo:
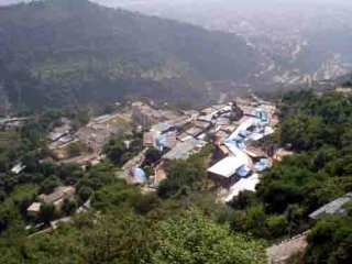
[[[0, 261], [264, 263], [263, 240], [276, 242], [310, 229], [301, 262], [350, 263], [351, 205], [346, 216], [311, 222], [308, 215], [352, 190], [351, 106], [351, 97], [334, 92], [286, 94], [272, 141], [292, 145], [296, 154], [265, 173], [256, 193], [241, 193], [228, 206], [217, 205], [208, 190], [210, 145], [187, 161], [167, 163], [168, 178], [157, 193], [142, 195], [116, 177], [123, 162], [140, 151], [140, 140], [127, 148], [122, 139], [112, 139], [105, 148], [109, 162], [86, 169], [38, 162], [48, 153], [33, 150], [45, 150], [44, 135], [63, 113], [35, 116], [22, 128], [1, 132], [13, 143], [0, 145]], [[161, 153], [150, 150], [145, 155], [147, 166]], [[19, 156], [28, 167], [13, 175], [9, 164]], [[76, 215], [53, 233], [28, 238], [35, 229], [24, 229], [32, 223], [25, 209], [40, 193], [63, 184], [76, 186], [76, 204], [65, 205], [62, 216], [45, 208], [40, 221], [70, 216], [88, 198], [91, 211]]]

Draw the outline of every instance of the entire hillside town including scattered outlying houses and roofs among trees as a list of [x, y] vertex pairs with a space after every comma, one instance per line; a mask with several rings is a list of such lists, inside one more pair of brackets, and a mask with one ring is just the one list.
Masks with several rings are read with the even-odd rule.
[[[351, 89], [337, 87], [334, 92], [349, 97]], [[30, 118], [7, 118], [0, 124], [4, 131], [10, 131], [28, 120]], [[91, 118], [78, 128], [65, 117], [47, 134], [47, 141], [48, 150], [55, 156], [52, 162], [57, 166], [75, 164], [84, 170], [111, 162], [106, 148], [111, 140], [122, 140], [125, 150], [138, 142], [139, 151], [132, 151], [133, 156], [114, 168], [114, 177], [143, 195], [158, 191], [162, 182], [168, 178], [169, 164], [210, 150], [205, 161], [208, 178], [201, 190], [213, 194], [216, 204], [231, 206], [245, 191], [256, 193], [263, 174], [271, 172], [284, 157], [295, 154], [290, 144], [279, 146], [273, 140], [279, 125], [275, 103], [249, 94], [232, 102], [200, 110], [176, 111], [165, 106], [156, 107], [153, 101], [129, 102], [122, 109]], [[160, 153], [153, 162], [147, 161], [151, 152]], [[10, 172], [21, 175], [25, 169], [26, 165], [19, 158]], [[62, 223], [73, 222], [76, 215], [91, 210], [91, 196], [84, 200], [79, 197], [77, 186], [69, 182], [41, 190], [25, 209], [26, 230], [33, 232], [30, 237], [51, 233]], [[349, 193], [332, 199], [309, 211], [307, 217], [316, 222], [331, 215], [344, 216], [351, 197]], [[51, 207], [56, 217], [48, 223], [42, 222], [43, 208]], [[297, 252], [305, 251], [309, 233], [309, 229], [301, 230], [267, 248], [267, 258], [271, 263], [285, 263]]]

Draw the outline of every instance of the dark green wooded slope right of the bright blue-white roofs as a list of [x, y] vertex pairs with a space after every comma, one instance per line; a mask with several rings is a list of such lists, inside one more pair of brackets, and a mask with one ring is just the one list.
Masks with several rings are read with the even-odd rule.
[[308, 215], [352, 190], [352, 98], [288, 92], [279, 118], [275, 141], [296, 154], [264, 174], [256, 194], [233, 199], [227, 219], [234, 230], [274, 241], [312, 228], [306, 262], [350, 263], [351, 219], [332, 217], [311, 227]]

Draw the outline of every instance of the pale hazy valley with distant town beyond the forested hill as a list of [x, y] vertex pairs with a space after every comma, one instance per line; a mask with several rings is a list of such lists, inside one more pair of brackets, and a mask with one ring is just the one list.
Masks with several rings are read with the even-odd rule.
[[327, 9], [323, 1], [97, 1], [243, 36], [262, 55], [248, 81], [254, 89], [258, 84], [311, 87], [352, 70], [348, 2]]

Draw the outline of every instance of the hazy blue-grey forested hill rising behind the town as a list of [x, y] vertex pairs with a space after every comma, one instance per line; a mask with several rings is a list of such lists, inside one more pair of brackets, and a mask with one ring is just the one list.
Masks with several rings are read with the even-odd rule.
[[204, 81], [243, 78], [257, 56], [235, 35], [87, 0], [0, 8], [0, 84], [15, 107], [199, 98]]

